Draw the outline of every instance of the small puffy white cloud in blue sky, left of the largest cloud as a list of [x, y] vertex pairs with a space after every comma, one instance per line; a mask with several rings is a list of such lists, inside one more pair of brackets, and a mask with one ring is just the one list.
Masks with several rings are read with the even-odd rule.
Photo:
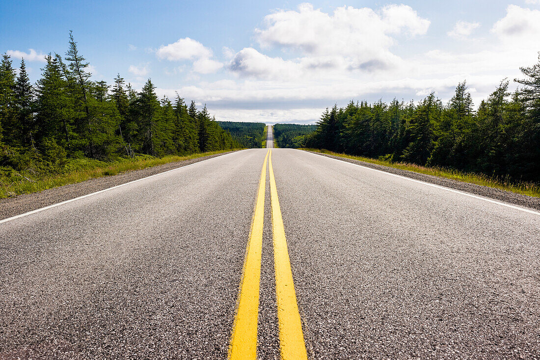
[[199, 74], [211, 74], [223, 67], [222, 63], [211, 59], [211, 49], [189, 37], [179, 39], [176, 43], [161, 45], [156, 55], [168, 61], [192, 60], [193, 71]]

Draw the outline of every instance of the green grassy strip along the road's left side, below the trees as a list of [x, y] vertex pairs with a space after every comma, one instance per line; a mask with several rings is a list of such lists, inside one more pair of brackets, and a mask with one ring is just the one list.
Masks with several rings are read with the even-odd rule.
[[30, 170], [2, 172], [0, 173], [0, 198], [29, 194], [56, 186], [75, 184], [93, 178], [117, 175], [126, 171], [146, 169], [151, 166], [221, 154], [232, 150], [238, 149], [202, 152], [186, 156], [169, 155], [161, 158], [141, 155], [133, 158], [119, 158], [111, 162], [89, 158], [70, 159], [64, 171], [56, 175], [40, 175]]

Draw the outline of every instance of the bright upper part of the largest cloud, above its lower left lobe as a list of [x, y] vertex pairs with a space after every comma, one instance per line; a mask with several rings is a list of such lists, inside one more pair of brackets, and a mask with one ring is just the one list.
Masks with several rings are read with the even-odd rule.
[[298, 11], [280, 10], [265, 17], [265, 29], [256, 29], [263, 48], [279, 46], [305, 55], [353, 57], [357, 61], [387, 62], [391, 58], [390, 35], [426, 34], [429, 21], [407, 5], [389, 5], [376, 12], [370, 8], [343, 6], [326, 14], [304, 3]]

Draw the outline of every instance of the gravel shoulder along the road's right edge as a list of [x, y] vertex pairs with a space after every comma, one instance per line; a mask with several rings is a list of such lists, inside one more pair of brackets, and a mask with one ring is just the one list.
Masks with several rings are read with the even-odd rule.
[[316, 152], [316, 151], [308, 151], [308, 152], [313, 152], [313, 154], [322, 155], [322, 156], [338, 159], [341, 161], [346, 161], [352, 164], [366, 166], [367, 168], [390, 172], [391, 174], [401, 175], [401, 176], [409, 177], [411, 179], [416, 179], [416, 180], [424, 181], [424, 182], [435, 184], [435, 185], [446, 186], [447, 188], [469, 192], [470, 194], [475, 194], [475, 195], [495, 199], [498, 201], [503, 201], [506, 203], [518, 205], [518, 206], [524, 206], [525, 208], [540, 210], [540, 198], [537, 198], [537, 197], [516, 194], [515, 192], [505, 191], [505, 190], [496, 189], [496, 188], [489, 188], [488, 186], [465, 183], [462, 181], [446, 179], [443, 177], [438, 177], [438, 176], [433, 176], [433, 175], [419, 174], [418, 172], [414, 172], [414, 171], [395, 169], [395, 168], [391, 168], [390, 166], [367, 163], [367, 162], [363, 162], [359, 160], [349, 159], [346, 157], [322, 154], [321, 152]]

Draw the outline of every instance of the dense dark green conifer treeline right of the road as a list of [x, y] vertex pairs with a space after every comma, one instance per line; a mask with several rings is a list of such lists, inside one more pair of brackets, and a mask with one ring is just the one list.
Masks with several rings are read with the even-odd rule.
[[502, 81], [477, 109], [465, 82], [447, 104], [431, 93], [419, 103], [334, 106], [306, 146], [538, 182], [540, 63], [521, 70], [521, 88], [511, 94]]

